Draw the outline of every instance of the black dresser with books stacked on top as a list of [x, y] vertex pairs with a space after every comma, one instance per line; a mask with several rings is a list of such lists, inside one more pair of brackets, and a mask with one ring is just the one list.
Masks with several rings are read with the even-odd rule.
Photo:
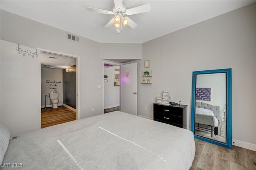
[[187, 105], [162, 105], [153, 103], [154, 105], [154, 120], [187, 128]]

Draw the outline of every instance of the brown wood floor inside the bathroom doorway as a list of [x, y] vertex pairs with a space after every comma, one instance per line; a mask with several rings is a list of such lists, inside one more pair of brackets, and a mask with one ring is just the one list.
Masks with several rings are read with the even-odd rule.
[[41, 110], [41, 128], [76, 120], [76, 112], [64, 106]]

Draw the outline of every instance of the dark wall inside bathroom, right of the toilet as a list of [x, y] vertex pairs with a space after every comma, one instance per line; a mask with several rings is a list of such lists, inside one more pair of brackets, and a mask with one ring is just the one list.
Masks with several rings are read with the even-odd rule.
[[76, 109], [76, 65], [62, 70], [63, 75], [63, 104]]

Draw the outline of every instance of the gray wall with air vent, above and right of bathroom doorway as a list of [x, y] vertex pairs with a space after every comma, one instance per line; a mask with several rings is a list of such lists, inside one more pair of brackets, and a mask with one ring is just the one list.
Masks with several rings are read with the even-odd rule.
[[[81, 103], [80, 118], [103, 113], [102, 89], [97, 88], [97, 85], [102, 85], [103, 82], [100, 43], [83, 37], [80, 37], [80, 43], [72, 42], [66, 39], [66, 31], [3, 10], [1, 10], [0, 17], [2, 40], [31, 48], [42, 48], [80, 56], [80, 67], [78, 67], [81, 75], [79, 77], [80, 94], [78, 94]], [[38, 102], [41, 103], [40, 100]], [[92, 107], [94, 112], [91, 112]]]

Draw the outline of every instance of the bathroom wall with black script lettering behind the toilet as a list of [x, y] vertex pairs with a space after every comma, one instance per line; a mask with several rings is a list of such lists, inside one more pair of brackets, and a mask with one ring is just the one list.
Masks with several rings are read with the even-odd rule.
[[[62, 106], [63, 103], [63, 81], [62, 70], [52, 68], [41, 68], [41, 108], [44, 107], [45, 95], [57, 90], [59, 93], [58, 106]], [[46, 97], [46, 107], [51, 107], [50, 98]]]

